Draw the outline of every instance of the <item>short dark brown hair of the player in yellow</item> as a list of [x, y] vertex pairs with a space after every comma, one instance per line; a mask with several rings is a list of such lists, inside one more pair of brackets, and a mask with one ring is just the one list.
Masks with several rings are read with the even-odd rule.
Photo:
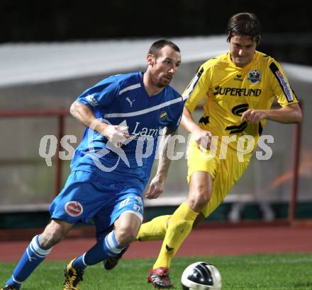
[[242, 12], [233, 15], [228, 21], [228, 42], [234, 35], [249, 36], [252, 41], [260, 42], [261, 25], [254, 13]]

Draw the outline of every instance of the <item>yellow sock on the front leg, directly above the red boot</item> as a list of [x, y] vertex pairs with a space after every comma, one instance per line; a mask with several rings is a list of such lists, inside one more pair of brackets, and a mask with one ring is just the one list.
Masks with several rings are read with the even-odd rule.
[[158, 267], [170, 267], [172, 257], [179, 250], [184, 239], [189, 236], [198, 212], [193, 211], [185, 203], [181, 204], [170, 218], [165, 239], [162, 243], [160, 255], [154, 264], [153, 269]]

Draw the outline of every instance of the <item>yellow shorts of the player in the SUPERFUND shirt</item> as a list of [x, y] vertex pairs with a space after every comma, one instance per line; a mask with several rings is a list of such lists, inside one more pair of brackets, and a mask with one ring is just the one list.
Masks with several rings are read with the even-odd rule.
[[196, 171], [210, 173], [213, 178], [211, 199], [201, 211], [204, 216], [209, 216], [223, 202], [245, 172], [251, 156], [252, 153], [245, 154], [243, 162], [239, 162], [237, 151], [228, 147], [226, 157], [221, 159], [218, 154], [212, 155], [209, 150], [199, 149], [193, 140], [190, 141], [187, 149], [187, 182]]

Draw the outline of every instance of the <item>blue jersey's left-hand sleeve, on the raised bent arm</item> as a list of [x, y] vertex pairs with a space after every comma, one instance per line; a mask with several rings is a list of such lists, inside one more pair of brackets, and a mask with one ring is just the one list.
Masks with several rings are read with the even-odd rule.
[[77, 101], [87, 105], [92, 111], [108, 107], [118, 95], [118, 82], [113, 76], [104, 79], [95, 86], [88, 88]]

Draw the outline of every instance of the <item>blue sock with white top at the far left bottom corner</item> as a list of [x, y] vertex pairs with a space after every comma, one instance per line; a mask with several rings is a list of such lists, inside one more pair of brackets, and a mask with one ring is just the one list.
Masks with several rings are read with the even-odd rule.
[[43, 262], [45, 257], [51, 252], [52, 248], [44, 250], [40, 247], [38, 238], [39, 235], [33, 237], [33, 240], [31, 240], [21, 260], [16, 265], [13, 275], [6, 282], [7, 285], [12, 285], [19, 289], [21, 282], [25, 281], [40, 262]]

